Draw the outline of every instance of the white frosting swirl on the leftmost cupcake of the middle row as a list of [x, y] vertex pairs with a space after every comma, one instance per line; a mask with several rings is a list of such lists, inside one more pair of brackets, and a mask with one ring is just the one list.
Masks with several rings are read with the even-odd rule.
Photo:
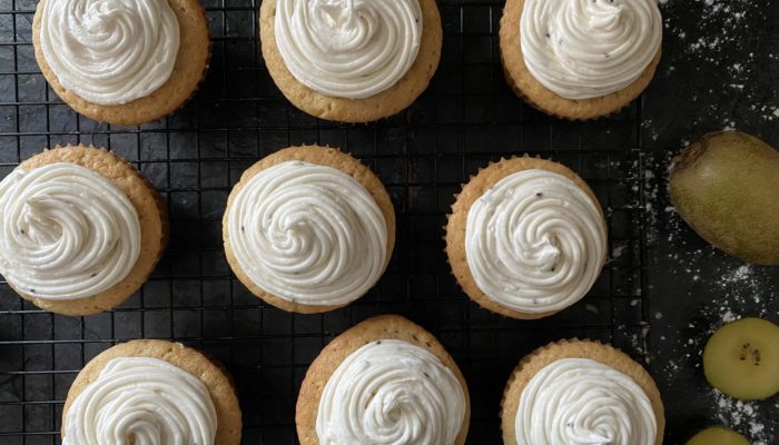
[[140, 255], [140, 221], [125, 192], [75, 164], [17, 169], [0, 182], [0, 274], [41, 299], [91, 297]]

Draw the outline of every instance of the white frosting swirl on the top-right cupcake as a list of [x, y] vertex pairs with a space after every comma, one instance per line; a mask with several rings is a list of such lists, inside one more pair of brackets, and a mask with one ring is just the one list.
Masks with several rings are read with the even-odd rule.
[[660, 49], [657, 0], [525, 0], [520, 41], [527, 70], [566, 99], [624, 89]]

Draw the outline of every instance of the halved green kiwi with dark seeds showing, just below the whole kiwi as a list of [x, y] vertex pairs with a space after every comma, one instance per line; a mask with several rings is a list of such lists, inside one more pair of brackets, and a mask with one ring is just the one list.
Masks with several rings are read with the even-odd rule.
[[771, 397], [779, 392], [779, 326], [762, 318], [724, 325], [706, 344], [703, 373], [731, 397]]

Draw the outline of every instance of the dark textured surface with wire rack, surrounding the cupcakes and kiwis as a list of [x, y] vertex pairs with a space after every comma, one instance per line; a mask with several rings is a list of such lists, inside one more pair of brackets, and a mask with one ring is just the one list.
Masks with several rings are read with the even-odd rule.
[[[667, 443], [722, 422], [763, 445], [779, 443], [777, 398], [732, 404], [706, 384], [698, 357], [731, 314], [779, 322], [779, 271], [708, 247], [667, 208], [664, 194], [670, 154], [684, 140], [737, 127], [779, 146], [779, 12], [771, 0], [669, 0], [655, 81], [623, 112], [585, 123], [545, 117], [510, 92], [496, 43], [502, 2], [440, 1], [445, 39], [433, 85], [406, 112], [368, 126], [318, 121], [287, 103], [263, 67], [258, 3], [206, 2], [214, 38], [207, 81], [181, 111], [138, 128], [99, 125], [61, 103], [30, 44], [36, 1], [0, 0], [0, 177], [47, 146], [107, 146], [164, 192], [172, 218], [162, 263], [114, 313], [55, 316], [0, 284], [0, 443], [57, 443], [61, 404], [82, 364], [115, 342], [158, 337], [200, 347], [229, 367], [245, 443], [293, 444], [307, 365], [333, 336], [382, 313], [422, 324], [458, 362], [473, 402], [470, 443], [500, 443], [499, 403], [520, 357], [571, 336], [612, 342], [648, 363], [668, 408]], [[266, 307], [230, 275], [221, 251], [229, 187], [259, 157], [304, 142], [362, 158], [398, 216], [381, 284], [326, 315]], [[592, 185], [613, 254], [583, 301], [540, 322], [470, 303], [448, 274], [441, 239], [460, 184], [490, 160], [523, 152], [564, 162]]]

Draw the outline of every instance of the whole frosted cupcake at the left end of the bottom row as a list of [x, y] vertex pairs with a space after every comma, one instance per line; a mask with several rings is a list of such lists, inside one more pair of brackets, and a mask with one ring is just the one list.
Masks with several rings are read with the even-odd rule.
[[132, 340], [92, 358], [62, 408], [63, 445], [237, 445], [233, 380], [199, 352]]

